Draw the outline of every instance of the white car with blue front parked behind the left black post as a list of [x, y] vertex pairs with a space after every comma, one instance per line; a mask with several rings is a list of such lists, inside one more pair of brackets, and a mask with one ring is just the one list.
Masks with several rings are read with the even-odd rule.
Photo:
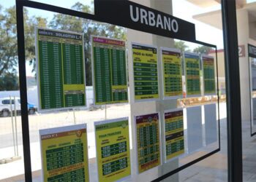
[[[12, 102], [12, 107], [10, 106], [10, 101]], [[0, 98], [0, 116], [10, 116], [11, 108], [12, 113], [14, 113], [16, 107], [17, 114], [20, 114], [20, 98]], [[34, 104], [28, 103], [28, 111], [29, 114], [34, 114], [37, 111], [36, 106]]]

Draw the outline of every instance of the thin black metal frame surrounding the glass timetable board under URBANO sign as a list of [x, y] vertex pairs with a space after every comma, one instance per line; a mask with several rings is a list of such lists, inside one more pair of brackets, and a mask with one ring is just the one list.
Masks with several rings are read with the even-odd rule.
[[[91, 15], [85, 12], [78, 12], [72, 9], [66, 9], [62, 7], [56, 7], [50, 4], [42, 4], [35, 1], [29, 0], [16, 0], [16, 16], [17, 16], [17, 34], [18, 34], [18, 64], [19, 64], [19, 79], [20, 79], [20, 100], [21, 100], [21, 118], [22, 118], [22, 132], [23, 132], [23, 155], [24, 155], [24, 169], [25, 169], [25, 180], [32, 181], [31, 174], [31, 157], [30, 157], [30, 141], [29, 141], [29, 117], [28, 117], [28, 109], [27, 109], [27, 92], [26, 92], [26, 58], [25, 58], [25, 44], [24, 44], [24, 24], [23, 24], [23, 7], [30, 7], [34, 9], [41, 9], [50, 12], [56, 12], [64, 15], [70, 15], [75, 17], [81, 17], [84, 19], [95, 20], [99, 22], [109, 23], [108, 20], [101, 20], [100, 17], [96, 15]], [[113, 24], [113, 23], [112, 23]], [[155, 33], [152, 33], [155, 34]], [[156, 34], [157, 35], [157, 34]], [[169, 37], [168, 37], [169, 38]], [[188, 40], [191, 41], [191, 40]], [[217, 47], [212, 44], [207, 44], [202, 41], [191, 41], [193, 43], [202, 44], [207, 47], [213, 47], [216, 52], [217, 59]], [[218, 71], [217, 71], [217, 85], [218, 85]], [[219, 89], [217, 89], [218, 96], [218, 112], [219, 112]], [[192, 162], [187, 163], [186, 165], [182, 165], [181, 167], [176, 168], [176, 170], [172, 170], [165, 175], [160, 176], [154, 181], [162, 181], [163, 179], [178, 173], [185, 168], [194, 165], [197, 162], [200, 162], [207, 157], [217, 153], [220, 151], [220, 126], [219, 126], [219, 116], [218, 116], [218, 130], [219, 130], [219, 148], [214, 151], [209, 152], [208, 154], [203, 155], [195, 159]]]

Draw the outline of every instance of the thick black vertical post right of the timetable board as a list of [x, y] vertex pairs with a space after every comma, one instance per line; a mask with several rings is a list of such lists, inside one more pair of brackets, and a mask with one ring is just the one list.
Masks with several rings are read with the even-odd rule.
[[241, 96], [236, 1], [222, 0], [222, 23], [227, 90], [228, 181], [243, 181]]

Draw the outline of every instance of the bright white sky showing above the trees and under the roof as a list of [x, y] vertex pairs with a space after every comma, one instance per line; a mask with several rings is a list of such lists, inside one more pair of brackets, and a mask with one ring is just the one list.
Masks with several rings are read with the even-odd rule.
[[[70, 8], [76, 2], [80, 2], [82, 4], [91, 5], [91, 0], [34, 0], [38, 2], [42, 2], [45, 4], [52, 4], [60, 7]], [[148, 1], [148, 0], [145, 0]], [[156, 0], [157, 1], [157, 0]], [[254, 2], [256, 0], [247, 0], [247, 3]], [[1, 6], [4, 8], [11, 7], [15, 5], [15, 0], [0, 0]], [[183, 20], [187, 20], [191, 23], [195, 23], [196, 30], [196, 39], [198, 41], [203, 41], [209, 44], [217, 45], [217, 49], [223, 49], [223, 39], [222, 39], [222, 30], [214, 28], [205, 23], [201, 23], [192, 18], [193, 15], [201, 14], [204, 12], [211, 12], [213, 10], [220, 9], [220, 5], [210, 8], [201, 8], [197, 7], [194, 4], [189, 3], [186, 0], [173, 0], [173, 16], [179, 17]], [[37, 15], [48, 18], [51, 20], [53, 17], [53, 13], [46, 12], [37, 9], [29, 9], [29, 15]], [[195, 48], [195, 44], [189, 44], [190, 49]], [[27, 76], [31, 76], [31, 67], [29, 65], [26, 66]]]

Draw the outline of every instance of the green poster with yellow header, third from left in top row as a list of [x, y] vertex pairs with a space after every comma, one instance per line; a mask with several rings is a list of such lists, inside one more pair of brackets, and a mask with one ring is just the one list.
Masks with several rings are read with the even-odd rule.
[[159, 98], [157, 47], [132, 43], [135, 101]]

